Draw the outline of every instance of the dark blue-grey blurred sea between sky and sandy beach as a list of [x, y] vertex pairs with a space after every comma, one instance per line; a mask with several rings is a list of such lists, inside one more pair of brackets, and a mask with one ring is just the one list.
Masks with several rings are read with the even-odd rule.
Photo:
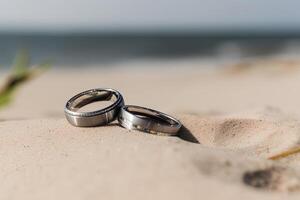
[[244, 35], [0, 34], [0, 66], [10, 66], [20, 49], [30, 53], [33, 63], [50, 59], [58, 67], [81, 67], [137, 59], [300, 55], [300, 39], [295, 36]]

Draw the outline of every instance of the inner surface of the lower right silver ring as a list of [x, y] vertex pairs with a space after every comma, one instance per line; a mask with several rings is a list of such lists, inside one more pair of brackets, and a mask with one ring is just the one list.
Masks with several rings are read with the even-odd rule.
[[174, 120], [160, 114], [159, 112], [149, 110], [146, 108], [127, 107], [127, 111], [136, 115], [137, 117], [139, 117], [141, 119], [147, 119], [154, 123], [159, 123], [162, 125], [176, 125], [177, 124]]

